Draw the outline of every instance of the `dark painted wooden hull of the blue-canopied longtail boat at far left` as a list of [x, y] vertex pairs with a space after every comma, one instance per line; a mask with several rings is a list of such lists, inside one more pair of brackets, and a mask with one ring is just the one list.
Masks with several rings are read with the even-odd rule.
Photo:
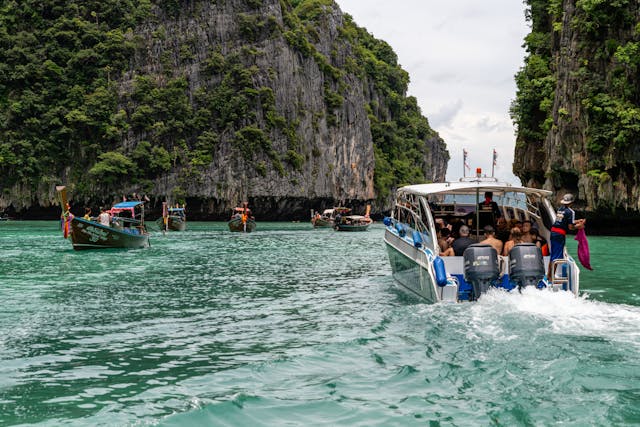
[[71, 243], [73, 249], [147, 248], [148, 234], [132, 234], [113, 227], [107, 227], [82, 218], [71, 220]]

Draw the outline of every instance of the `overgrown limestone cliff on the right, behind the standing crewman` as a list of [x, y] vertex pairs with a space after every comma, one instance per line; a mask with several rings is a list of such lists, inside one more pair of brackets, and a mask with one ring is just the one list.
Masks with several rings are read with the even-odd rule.
[[[640, 212], [640, 4], [528, 0], [514, 173], [579, 208]], [[596, 219], [597, 215], [593, 215]]]

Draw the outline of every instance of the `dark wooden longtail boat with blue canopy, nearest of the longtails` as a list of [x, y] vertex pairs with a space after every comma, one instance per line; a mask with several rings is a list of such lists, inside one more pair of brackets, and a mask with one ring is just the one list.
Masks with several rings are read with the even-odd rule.
[[[62, 206], [62, 229], [65, 239], [71, 237], [75, 250], [149, 247], [149, 234], [144, 225], [144, 202], [122, 202], [109, 211], [109, 225], [79, 218], [69, 212], [67, 190], [57, 186]], [[120, 216], [121, 214], [126, 214]]]

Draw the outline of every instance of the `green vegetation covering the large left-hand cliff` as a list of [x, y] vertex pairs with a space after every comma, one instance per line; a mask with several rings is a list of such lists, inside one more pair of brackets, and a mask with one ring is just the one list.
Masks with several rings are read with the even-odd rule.
[[[0, 6], [0, 188], [33, 192], [67, 180], [89, 195], [131, 184], [150, 191], [176, 173], [198, 180], [224, 141], [257, 174], [301, 171], [313, 153], [301, 149], [296, 117], [279, 112], [272, 70], [251, 65], [260, 43], [281, 38], [312, 58], [323, 73], [326, 111], [314, 120], [337, 126], [347, 75], [365, 83], [379, 197], [402, 183], [425, 181], [427, 139], [437, 137], [415, 98], [407, 73], [388, 44], [345, 16], [340, 40], [351, 46], [344, 67], [315, 44], [331, 0], [280, 0], [283, 24], [262, 15], [261, 0], [238, 11], [241, 48], [210, 46], [199, 64], [206, 84], [194, 86], [174, 66], [196, 60], [197, 40], [164, 50], [153, 72], [136, 57], [150, 50], [140, 33], [153, 22], [153, 43], [169, 37], [163, 19], [197, 13], [180, 0], [8, 0]], [[193, 4], [191, 4], [193, 3]], [[130, 81], [123, 84], [123, 81]], [[284, 150], [274, 140], [286, 141]], [[264, 159], [267, 159], [265, 163]], [[179, 181], [180, 182], [180, 181]]]

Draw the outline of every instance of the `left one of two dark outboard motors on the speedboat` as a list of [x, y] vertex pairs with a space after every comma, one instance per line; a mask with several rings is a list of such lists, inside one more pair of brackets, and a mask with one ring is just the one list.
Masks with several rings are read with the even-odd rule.
[[491, 245], [476, 243], [465, 249], [462, 256], [464, 280], [471, 283], [473, 297], [477, 300], [498, 279], [498, 251]]

